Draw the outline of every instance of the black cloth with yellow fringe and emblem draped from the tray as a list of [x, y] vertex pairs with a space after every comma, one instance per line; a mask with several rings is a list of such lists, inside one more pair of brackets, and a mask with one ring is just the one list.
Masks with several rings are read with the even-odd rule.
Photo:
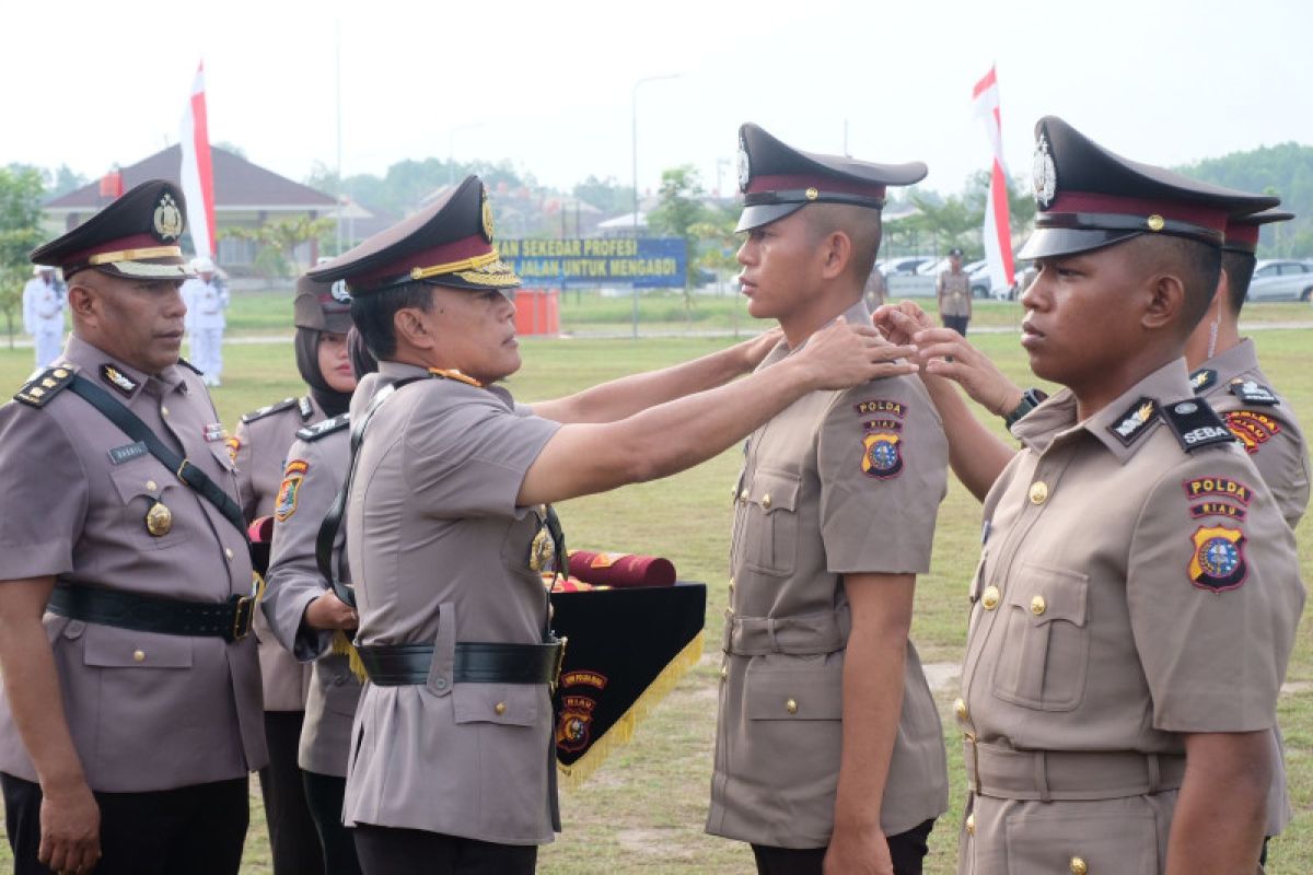
[[557, 765], [580, 784], [702, 653], [706, 585], [553, 592], [569, 639], [555, 690]]

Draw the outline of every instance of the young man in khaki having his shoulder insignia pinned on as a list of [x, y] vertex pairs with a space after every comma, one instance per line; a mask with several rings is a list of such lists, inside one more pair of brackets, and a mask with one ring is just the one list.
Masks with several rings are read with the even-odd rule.
[[[926, 165], [800, 152], [755, 125], [739, 143], [739, 281], [784, 329], [769, 373], [836, 315], [869, 320], [885, 188]], [[751, 842], [760, 872], [922, 870], [948, 767], [907, 632], [947, 466], [911, 376], [813, 392], [748, 438], [706, 829]]]

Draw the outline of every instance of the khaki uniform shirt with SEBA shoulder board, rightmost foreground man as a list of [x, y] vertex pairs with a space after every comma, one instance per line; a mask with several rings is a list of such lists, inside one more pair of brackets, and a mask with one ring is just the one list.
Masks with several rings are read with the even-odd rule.
[[1238, 445], [1187, 453], [1152, 405], [1190, 397], [1176, 359], [1085, 422], [1065, 390], [1012, 426], [956, 704], [960, 872], [1159, 872], [1184, 736], [1275, 724], [1295, 539]]

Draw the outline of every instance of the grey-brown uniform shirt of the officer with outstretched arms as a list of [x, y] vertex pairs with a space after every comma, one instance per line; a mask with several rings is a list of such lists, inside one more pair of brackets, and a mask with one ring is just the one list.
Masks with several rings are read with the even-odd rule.
[[[382, 387], [427, 371], [397, 362]], [[377, 391], [377, 390], [376, 390]], [[374, 392], [356, 391], [360, 417]], [[427, 685], [365, 685], [344, 821], [507, 845], [559, 828], [546, 683], [452, 683], [457, 641], [538, 644], [542, 577], [529, 567], [540, 514], [516, 505], [559, 424], [499, 387], [421, 379], [369, 422], [347, 508], [347, 554], [369, 644], [435, 644]]]

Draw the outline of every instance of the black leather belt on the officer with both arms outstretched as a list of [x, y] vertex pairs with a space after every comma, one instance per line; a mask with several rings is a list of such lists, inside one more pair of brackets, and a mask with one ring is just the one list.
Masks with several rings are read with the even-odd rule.
[[[432, 644], [360, 647], [360, 661], [376, 686], [427, 683], [433, 662]], [[454, 683], [555, 683], [565, 657], [565, 641], [496, 644], [457, 641], [452, 668]]]

